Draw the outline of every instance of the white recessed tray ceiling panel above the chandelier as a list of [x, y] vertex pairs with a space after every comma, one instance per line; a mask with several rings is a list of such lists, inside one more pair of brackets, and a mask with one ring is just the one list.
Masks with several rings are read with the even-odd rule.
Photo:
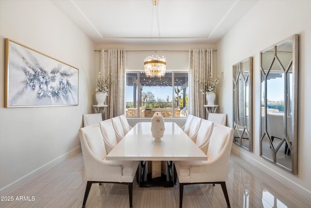
[[94, 43], [213, 44], [258, 0], [159, 0], [157, 6], [152, 0], [52, 2]]

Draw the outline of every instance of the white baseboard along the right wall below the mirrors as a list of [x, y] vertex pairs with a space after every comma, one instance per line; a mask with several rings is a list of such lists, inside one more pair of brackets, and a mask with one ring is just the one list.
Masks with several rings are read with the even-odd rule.
[[[289, 189], [294, 190], [299, 195], [301, 195], [304, 198], [306, 198], [307, 200], [311, 201], [311, 190], [308, 190], [308, 189], [302, 187], [301, 185], [295, 183], [291, 179], [285, 177], [280, 172], [278, 172], [278, 170], [274, 170], [274, 169], [266, 166], [265, 164], [261, 163], [260, 161], [256, 160], [255, 158], [247, 155], [245, 152], [241, 151], [240, 148], [237, 146], [235, 147], [233, 145], [231, 151], [234, 154], [239, 155], [244, 160], [250, 162], [251, 164], [253, 164], [257, 168], [259, 168], [260, 170], [269, 174], [271, 177], [273, 177], [274, 179], [276, 179], [278, 182], [282, 183], [283, 185], [287, 186]], [[278, 167], [276, 167], [276, 168], [278, 168]]]

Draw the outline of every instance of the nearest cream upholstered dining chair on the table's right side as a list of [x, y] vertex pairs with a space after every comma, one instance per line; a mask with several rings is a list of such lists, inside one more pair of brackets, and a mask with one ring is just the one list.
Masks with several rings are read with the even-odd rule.
[[179, 207], [183, 203], [184, 186], [191, 184], [220, 184], [227, 207], [230, 207], [225, 185], [234, 130], [214, 124], [207, 149], [207, 161], [174, 161], [174, 182], [179, 180]]

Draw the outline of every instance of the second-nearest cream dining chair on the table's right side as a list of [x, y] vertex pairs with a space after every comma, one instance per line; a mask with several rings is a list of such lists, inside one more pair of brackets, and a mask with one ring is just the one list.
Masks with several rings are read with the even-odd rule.
[[205, 119], [202, 119], [198, 133], [195, 135], [193, 141], [203, 151], [207, 152], [209, 138], [212, 134], [214, 123]]

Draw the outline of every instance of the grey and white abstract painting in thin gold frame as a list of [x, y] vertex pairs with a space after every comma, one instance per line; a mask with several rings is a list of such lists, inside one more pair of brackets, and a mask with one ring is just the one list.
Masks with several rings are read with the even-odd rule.
[[5, 39], [5, 107], [78, 105], [79, 70]]

